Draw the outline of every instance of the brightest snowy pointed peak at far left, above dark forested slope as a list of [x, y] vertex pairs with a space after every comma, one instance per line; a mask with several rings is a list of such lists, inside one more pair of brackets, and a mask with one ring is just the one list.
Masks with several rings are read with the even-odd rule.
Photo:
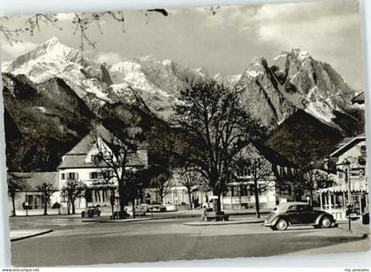
[[[83, 57], [79, 50], [71, 49], [51, 38], [35, 49], [2, 65], [3, 72], [24, 74], [34, 83], [60, 78], [72, 87], [87, 105], [95, 110], [106, 102], [133, 102], [136, 94], [127, 86], [112, 86], [110, 72], [102, 64]], [[110, 92], [116, 92], [111, 95]], [[140, 107], [147, 108], [145, 105]]]

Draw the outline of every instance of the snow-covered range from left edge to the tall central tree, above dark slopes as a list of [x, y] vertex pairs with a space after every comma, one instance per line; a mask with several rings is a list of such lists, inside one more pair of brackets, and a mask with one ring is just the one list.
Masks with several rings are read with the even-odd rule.
[[26, 54], [2, 64], [2, 72], [24, 74], [34, 83], [64, 79], [92, 110], [105, 103], [128, 102], [152, 110], [165, 119], [180, 90], [196, 79], [208, 78], [205, 69], [190, 69], [170, 60], [127, 58], [104, 64], [83, 57], [57, 38], [43, 42]]

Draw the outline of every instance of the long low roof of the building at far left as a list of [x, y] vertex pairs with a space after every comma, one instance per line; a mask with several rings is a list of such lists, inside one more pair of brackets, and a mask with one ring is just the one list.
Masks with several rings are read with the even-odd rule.
[[13, 174], [24, 178], [27, 191], [37, 191], [36, 186], [44, 183], [52, 184], [58, 190], [58, 172], [15, 172]]

